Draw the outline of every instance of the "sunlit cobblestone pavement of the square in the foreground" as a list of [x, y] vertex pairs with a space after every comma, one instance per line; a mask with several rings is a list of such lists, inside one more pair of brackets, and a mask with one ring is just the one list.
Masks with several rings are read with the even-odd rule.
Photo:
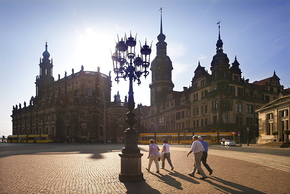
[[186, 157], [190, 148], [172, 145], [174, 170], [166, 161], [165, 170], [157, 174], [154, 164], [151, 172], [145, 170], [148, 145], [139, 145], [144, 180], [120, 182], [121, 144], [4, 144], [1, 193], [290, 193], [285, 156], [210, 148], [213, 174], [201, 180], [200, 175], [187, 175], [193, 168], [193, 154]]

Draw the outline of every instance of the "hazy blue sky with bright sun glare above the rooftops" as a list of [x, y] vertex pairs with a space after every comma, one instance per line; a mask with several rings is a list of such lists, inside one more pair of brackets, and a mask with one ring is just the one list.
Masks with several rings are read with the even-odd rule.
[[[235, 56], [249, 82], [276, 75], [290, 87], [289, 0], [0, 0], [0, 135], [12, 134], [12, 105], [35, 96], [35, 76], [45, 42], [53, 59], [55, 80], [80, 71], [113, 72], [115, 40], [130, 34], [143, 45], [152, 43], [156, 56], [162, 7], [167, 55], [173, 64], [175, 91], [191, 85], [200, 65], [210, 71], [216, 53], [218, 25], [230, 64]], [[136, 50], [138, 50], [136, 46]], [[136, 52], [138, 53], [138, 52]], [[151, 71], [141, 84], [133, 83], [136, 106], [150, 105]], [[128, 95], [129, 81], [112, 76], [113, 96]]]

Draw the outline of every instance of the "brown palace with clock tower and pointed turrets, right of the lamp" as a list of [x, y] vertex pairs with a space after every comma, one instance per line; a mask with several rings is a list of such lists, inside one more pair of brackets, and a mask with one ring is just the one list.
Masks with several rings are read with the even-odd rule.
[[[280, 85], [275, 71], [273, 76], [253, 83], [244, 79], [237, 58], [230, 64], [228, 56], [223, 52], [220, 25], [218, 28], [211, 72], [198, 62], [190, 87], [174, 91], [171, 80], [174, 65], [166, 53], [167, 43], [162, 32], [161, 16], [157, 55], [150, 68], [151, 105], [140, 107], [141, 133], [240, 131], [241, 140], [246, 141], [249, 127], [249, 139], [259, 136], [259, 117], [255, 109], [277, 98], [280, 92], [287, 94], [289, 91]], [[219, 143], [219, 140], [214, 141]]]

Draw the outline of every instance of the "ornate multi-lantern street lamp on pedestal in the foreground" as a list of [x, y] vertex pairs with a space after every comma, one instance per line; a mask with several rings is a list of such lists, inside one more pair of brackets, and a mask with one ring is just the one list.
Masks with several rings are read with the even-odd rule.
[[[124, 41], [123, 38], [121, 41], [118, 38], [115, 53], [112, 55], [114, 73], [117, 75], [115, 81], [119, 83], [119, 78], [124, 78], [124, 80], [129, 78], [129, 96], [127, 102], [129, 112], [126, 113], [127, 118], [125, 121], [129, 125], [129, 128], [124, 131], [125, 145], [122, 148], [122, 154], [119, 154], [121, 157], [119, 180], [121, 181], [139, 181], [143, 179], [143, 173], [141, 172], [141, 157], [143, 154], [140, 153], [137, 145], [138, 131], [133, 128], [133, 125], [137, 123], [135, 119], [136, 114], [133, 112], [135, 108], [133, 80], [134, 82], [137, 80], [137, 84], [140, 85], [140, 77], [142, 74], [144, 73], [145, 78], [148, 76], [149, 72], [147, 69], [150, 65], [152, 43], [150, 47], [146, 45], [146, 42], [141, 47], [140, 43], [141, 57], [139, 55], [138, 57], [135, 56], [135, 46], [136, 37], [134, 39], [130, 33], [130, 37], [127, 39], [125, 34]], [[127, 58], [130, 62], [127, 62]]]

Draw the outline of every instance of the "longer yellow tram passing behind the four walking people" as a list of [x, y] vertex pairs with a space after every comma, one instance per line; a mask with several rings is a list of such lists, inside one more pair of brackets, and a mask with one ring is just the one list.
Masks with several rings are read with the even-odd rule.
[[235, 135], [231, 132], [212, 132], [212, 133], [142, 133], [139, 134], [138, 143], [149, 143], [150, 139], [154, 139], [155, 143], [162, 143], [163, 139], [170, 139], [170, 143], [192, 143], [192, 136], [202, 136], [207, 143], [220, 143], [222, 139], [235, 140]]

